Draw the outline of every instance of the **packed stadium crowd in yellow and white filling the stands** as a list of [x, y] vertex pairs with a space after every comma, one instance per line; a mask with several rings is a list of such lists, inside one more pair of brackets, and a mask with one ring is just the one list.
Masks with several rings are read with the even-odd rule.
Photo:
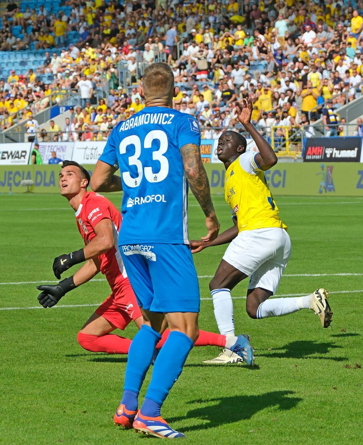
[[[343, 135], [329, 122], [338, 125], [336, 110], [360, 95], [361, 0], [245, 0], [243, 8], [235, 0], [71, 0], [58, 13], [49, 4], [28, 2], [24, 11], [10, 0], [2, 17], [1, 51], [46, 52], [40, 66], [25, 74], [14, 66], [0, 81], [1, 130], [25, 120], [40, 141], [106, 139], [117, 122], [144, 107], [140, 67], [159, 60], [172, 65], [180, 87], [174, 107], [198, 118], [203, 138], [241, 126], [236, 105], [243, 97], [253, 102], [252, 120], [268, 138], [302, 127], [314, 135], [328, 100], [324, 124], [331, 135]], [[128, 78], [119, 75], [125, 67]], [[107, 85], [102, 98], [101, 85]], [[71, 117], [39, 126], [33, 116], [70, 90], [81, 97]]]

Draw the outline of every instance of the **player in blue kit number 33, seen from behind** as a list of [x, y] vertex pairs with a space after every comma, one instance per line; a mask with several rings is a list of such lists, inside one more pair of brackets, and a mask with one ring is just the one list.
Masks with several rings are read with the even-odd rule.
[[[208, 233], [202, 240], [215, 239], [219, 231], [200, 158], [199, 125], [194, 117], [172, 109], [177, 93], [169, 65], [155, 63], [145, 69], [140, 95], [146, 106], [112, 130], [91, 179], [95, 191], [124, 191], [120, 252], [145, 321], [129, 349], [116, 414], [125, 428], [168, 438], [184, 435], [160, 417], [160, 408], [198, 337], [200, 299], [188, 241], [188, 184], [206, 215]], [[121, 181], [114, 175], [117, 168]], [[171, 332], [138, 411], [138, 395], [164, 318]], [[231, 348], [243, 357], [251, 346], [239, 336]]]

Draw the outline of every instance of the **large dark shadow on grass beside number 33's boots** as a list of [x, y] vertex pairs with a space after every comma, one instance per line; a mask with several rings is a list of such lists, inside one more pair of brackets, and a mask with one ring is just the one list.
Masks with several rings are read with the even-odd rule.
[[185, 417], [168, 418], [168, 422], [172, 424], [186, 419], [190, 421], [191, 418], [207, 421], [190, 427], [178, 428], [178, 431], [182, 432], [195, 431], [250, 419], [259, 411], [272, 406], [277, 406], [279, 411], [288, 411], [295, 408], [302, 400], [299, 397], [289, 397], [290, 394], [295, 394], [295, 392], [273, 391], [258, 396], [233, 396], [191, 401], [188, 404], [207, 404], [207, 406], [196, 407], [189, 411]]

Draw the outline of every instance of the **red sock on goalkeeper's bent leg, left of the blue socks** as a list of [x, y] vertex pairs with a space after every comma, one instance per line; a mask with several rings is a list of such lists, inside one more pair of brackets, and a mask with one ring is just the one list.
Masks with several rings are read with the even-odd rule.
[[78, 343], [82, 348], [92, 352], [107, 352], [108, 354], [127, 354], [131, 340], [116, 334], [95, 335], [78, 332]]

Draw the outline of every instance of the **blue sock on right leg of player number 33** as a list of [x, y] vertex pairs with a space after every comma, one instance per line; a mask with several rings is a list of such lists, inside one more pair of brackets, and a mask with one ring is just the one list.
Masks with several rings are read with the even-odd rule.
[[[160, 416], [160, 407], [180, 376], [192, 347], [193, 342], [183, 332], [170, 332], [155, 360], [151, 382], [141, 407], [143, 416]], [[173, 360], [170, 360], [170, 357], [173, 357]], [[150, 400], [156, 403], [152, 404]]]

